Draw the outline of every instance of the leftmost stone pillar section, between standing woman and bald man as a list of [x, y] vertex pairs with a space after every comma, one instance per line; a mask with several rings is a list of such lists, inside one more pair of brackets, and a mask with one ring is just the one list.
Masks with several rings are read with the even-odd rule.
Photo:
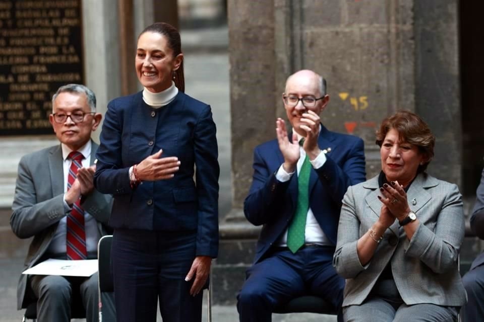
[[275, 137], [274, 4], [230, 0], [229, 62], [233, 206], [241, 208], [252, 179], [252, 150]]

